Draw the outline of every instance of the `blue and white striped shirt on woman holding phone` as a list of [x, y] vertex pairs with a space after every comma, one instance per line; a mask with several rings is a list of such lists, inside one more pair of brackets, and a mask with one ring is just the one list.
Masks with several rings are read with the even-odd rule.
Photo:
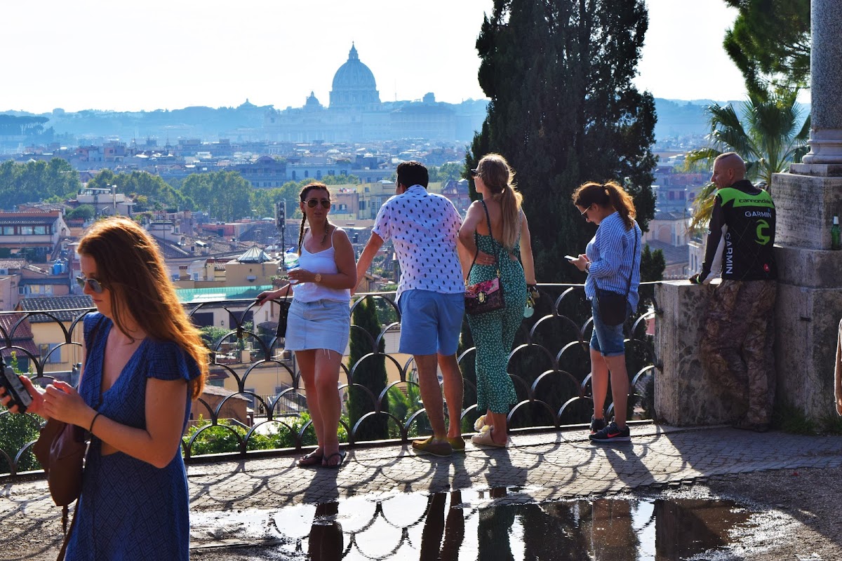
[[[585, 255], [590, 259], [590, 271], [584, 282], [584, 294], [588, 299], [596, 296], [596, 288], [610, 290], [619, 294], [629, 291], [628, 302], [632, 310], [637, 309], [637, 286], [640, 284], [640, 244], [641, 231], [637, 222], [634, 228], [626, 230], [620, 213], [614, 212], [605, 217], [596, 229], [596, 234], [588, 242]], [[637, 253], [632, 256], [635, 240]], [[629, 287], [629, 275], [632, 286]]]

